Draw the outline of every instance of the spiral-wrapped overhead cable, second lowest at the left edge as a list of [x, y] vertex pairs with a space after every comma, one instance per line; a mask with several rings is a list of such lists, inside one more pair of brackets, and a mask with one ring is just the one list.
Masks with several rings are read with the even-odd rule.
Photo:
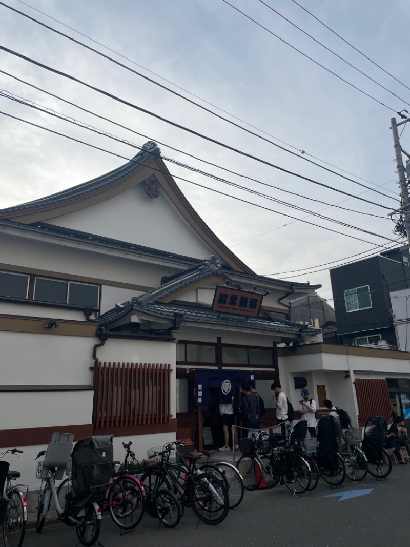
[[[16, 101], [20, 104], [24, 104], [25, 106], [28, 106], [30, 108], [34, 108], [34, 109], [37, 109], [39, 110], [39, 112], [42, 112], [42, 113], [45, 113], [45, 114], [48, 114], [48, 115], [51, 115], [53, 117], [56, 117], [57, 119], [61, 119], [63, 121], [66, 121], [70, 124], [74, 124], [74, 125], [77, 125], [79, 127], [81, 127], [81, 129], [86, 129], [87, 131], [92, 131], [92, 132], [95, 132], [97, 133], [98, 135], [102, 135], [104, 137], [107, 137], [107, 138], [110, 138], [110, 139], [113, 139], [114, 141], [117, 141], [117, 142], [121, 142], [121, 143], [124, 143], [124, 144], [127, 144], [127, 146], [131, 146], [132, 148], [137, 148], [138, 150], [141, 150], [142, 147], [134, 144], [134, 143], [131, 143], [130, 141], [126, 141], [126, 139], [123, 139], [123, 138], [120, 138], [120, 137], [116, 137], [114, 135], [112, 135], [111, 133], [107, 133], [106, 131], [103, 131], [101, 129], [97, 129], [96, 127], [93, 127], [91, 126], [90, 124], [85, 124], [79, 120], [76, 120], [74, 119], [73, 117], [67, 117], [66, 115], [64, 114], [61, 114], [61, 113], [57, 113], [55, 112], [55, 110], [52, 110], [52, 109], [49, 109], [49, 108], [45, 108], [45, 107], [42, 107], [42, 106], [39, 106], [37, 105], [36, 103], [33, 103], [33, 102], [28, 102], [27, 100], [25, 99], [22, 99], [20, 97], [13, 97], [13, 96], [10, 96], [9, 92], [4, 92], [3, 90], [0, 90], [0, 96], [3, 96], [5, 98], [8, 98], [9, 100], [13, 100], [13, 101]], [[358, 226], [355, 226], [355, 225], [352, 225], [352, 224], [348, 224], [348, 223], [345, 223], [341, 220], [337, 220], [337, 219], [332, 219], [332, 218], [329, 218], [329, 217], [326, 217], [322, 214], [319, 214], [319, 213], [316, 213], [316, 212], [313, 212], [313, 211], [309, 211], [307, 210], [306, 208], [303, 208], [303, 207], [300, 207], [300, 206], [297, 206], [297, 205], [294, 205], [292, 203], [289, 203], [289, 202], [286, 202], [286, 201], [283, 201], [283, 200], [279, 200], [277, 199], [276, 197], [272, 197], [272, 196], [269, 196], [267, 194], [262, 194], [261, 192], [258, 192], [256, 190], [253, 190], [253, 189], [250, 189], [250, 188], [247, 188], [247, 187], [244, 187], [244, 186], [241, 186], [239, 184], [236, 184], [236, 183], [233, 183], [231, 181], [227, 181], [226, 179], [223, 179], [221, 177], [218, 177], [218, 176], [215, 176], [214, 174], [212, 173], [207, 173], [207, 172], [204, 172], [204, 171], [200, 171], [200, 170], [197, 170], [196, 168], [194, 167], [190, 167], [190, 166], [187, 166], [185, 164], [181, 164], [181, 162], [178, 162], [176, 160], [173, 160], [172, 158], [166, 158], [165, 156], [162, 156], [162, 159], [163, 160], [167, 160], [167, 161], [171, 161], [173, 164], [175, 165], [178, 165], [180, 167], [184, 167], [184, 168], [188, 168], [189, 170], [191, 171], [195, 171], [199, 174], [203, 174], [204, 176], [207, 176], [207, 177], [211, 177], [213, 179], [215, 179], [216, 181], [219, 181], [219, 182], [222, 182], [224, 184], [227, 184], [233, 188], [237, 188], [239, 190], [243, 190], [243, 191], [247, 191], [249, 192], [250, 194], [254, 194], [256, 196], [259, 196], [259, 197], [262, 197], [264, 199], [267, 199], [267, 200], [270, 200], [270, 201], [274, 201], [276, 203], [278, 203], [279, 205], [283, 205], [285, 207], [290, 207], [292, 209], [295, 209], [297, 211], [302, 211], [304, 213], [309, 213], [309, 215], [313, 215], [315, 217], [318, 217], [322, 220], [325, 220], [327, 222], [332, 222], [332, 223], [335, 223], [335, 224], [338, 224], [338, 225], [341, 225], [341, 226], [345, 226], [346, 228], [350, 228], [352, 230], [358, 230], [358, 231], [361, 231], [361, 232], [364, 232], [366, 234], [369, 234], [369, 235], [374, 235], [374, 236], [377, 236], [377, 237], [382, 237], [388, 241], [392, 241], [390, 238], [387, 238], [385, 236], [381, 236], [379, 234], [376, 234], [370, 230], [365, 230], [363, 228], [360, 228]], [[179, 178], [180, 180], [182, 181], [185, 181], [185, 182], [191, 182], [191, 181], [188, 181], [187, 179], [183, 178], [183, 177], [177, 177], [175, 176], [175, 178]], [[262, 183], [261, 184], [263, 185], [267, 185], [267, 186], [270, 186], [269, 184], [266, 184], [266, 183]]]

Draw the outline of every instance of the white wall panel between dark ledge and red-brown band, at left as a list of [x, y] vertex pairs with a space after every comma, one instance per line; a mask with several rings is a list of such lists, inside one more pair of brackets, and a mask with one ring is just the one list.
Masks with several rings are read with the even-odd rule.
[[57, 431], [61, 426], [90, 424], [92, 398], [93, 391], [3, 391], [0, 416], [7, 416], [7, 420], [2, 420], [2, 429], [55, 426]]

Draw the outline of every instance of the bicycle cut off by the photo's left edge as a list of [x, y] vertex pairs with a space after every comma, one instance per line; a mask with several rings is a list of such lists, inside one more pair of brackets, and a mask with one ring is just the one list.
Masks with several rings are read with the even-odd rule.
[[[0, 458], [9, 454], [22, 454], [13, 448], [0, 454]], [[8, 462], [0, 462], [0, 527], [5, 547], [21, 547], [24, 541], [27, 521], [28, 486], [14, 485], [11, 481], [20, 477], [19, 471], [10, 471]]]

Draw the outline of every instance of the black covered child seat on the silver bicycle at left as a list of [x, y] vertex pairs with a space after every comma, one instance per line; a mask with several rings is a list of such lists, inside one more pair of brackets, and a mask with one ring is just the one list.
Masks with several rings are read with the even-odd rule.
[[91, 501], [104, 499], [113, 476], [113, 436], [97, 435], [78, 441], [72, 453], [72, 503], [75, 516]]

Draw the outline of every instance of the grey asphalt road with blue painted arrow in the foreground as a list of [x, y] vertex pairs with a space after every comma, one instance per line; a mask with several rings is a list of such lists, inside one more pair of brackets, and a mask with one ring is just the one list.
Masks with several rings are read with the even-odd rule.
[[[216, 526], [198, 524], [192, 510], [185, 509], [176, 528], [158, 528], [157, 520], [145, 515], [135, 531], [120, 537], [120, 529], [107, 514], [99, 542], [103, 547], [135, 547], [137, 543], [144, 547], [404, 547], [410, 544], [409, 500], [410, 464], [393, 465], [383, 481], [367, 475], [362, 482], [345, 480], [331, 490], [319, 480], [314, 492], [299, 497], [292, 497], [286, 486], [280, 485], [245, 492], [242, 504]], [[46, 521], [41, 534], [30, 525], [24, 541], [25, 547], [77, 544], [73, 527], [52, 520]]]

